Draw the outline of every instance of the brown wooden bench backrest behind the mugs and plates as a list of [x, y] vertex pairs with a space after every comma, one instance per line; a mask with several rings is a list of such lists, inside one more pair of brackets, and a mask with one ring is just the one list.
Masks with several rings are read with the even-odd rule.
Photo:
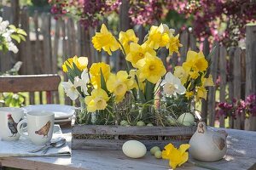
[[[58, 91], [61, 77], [56, 74], [48, 75], [19, 75], [0, 76], [0, 93], [3, 92], [29, 92], [30, 104], [35, 103], [34, 92], [40, 92], [40, 104], [43, 103], [43, 95], [46, 92], [47, 104], [53, 103], [53, 93]], [[59, 102], [56, 102], [59, 103]]]

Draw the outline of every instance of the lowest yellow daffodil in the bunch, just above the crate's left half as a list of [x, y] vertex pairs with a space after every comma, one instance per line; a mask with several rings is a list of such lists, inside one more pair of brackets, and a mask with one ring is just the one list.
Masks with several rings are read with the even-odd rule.
[[87, 111], [95, 112], [106, 109], [108, 99], [108, 94], [102, 88], [93, 89], [91, 95], [86, 96], [84, 99]]

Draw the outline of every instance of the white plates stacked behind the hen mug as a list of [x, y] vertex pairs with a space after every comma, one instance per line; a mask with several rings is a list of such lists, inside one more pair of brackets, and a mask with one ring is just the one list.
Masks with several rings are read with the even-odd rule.
[[52, 111], [55, 113], [55, 119], [67, 119], [72, 117], [75, 110], [71, 105], [27, 105], [23, 107], [25, 112], [28, 111]]

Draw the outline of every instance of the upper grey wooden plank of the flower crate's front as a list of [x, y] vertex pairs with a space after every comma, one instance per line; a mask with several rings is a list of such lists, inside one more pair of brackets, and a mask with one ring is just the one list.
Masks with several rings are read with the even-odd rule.
[[122, 127], [104, 125], [76, 125], [73, 134], [176, 136], [195, 133], [194, 127]]

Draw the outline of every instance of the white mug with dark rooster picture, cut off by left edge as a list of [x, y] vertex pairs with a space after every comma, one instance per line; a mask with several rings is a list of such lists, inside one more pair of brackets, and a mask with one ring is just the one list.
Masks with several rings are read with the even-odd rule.
[[24, 116], [23, 109], [15, 107], [0, 108], [0, 139], [18, 140], [20, 134], [17, 131], [17, 124]]

